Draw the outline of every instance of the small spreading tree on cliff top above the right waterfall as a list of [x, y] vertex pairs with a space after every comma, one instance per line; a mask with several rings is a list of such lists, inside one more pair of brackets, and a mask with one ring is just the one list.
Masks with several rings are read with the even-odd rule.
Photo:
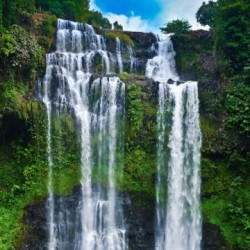
[[191, 25], [187, 20], [176, 19], [166, 23], [165, 27], [160, 28], [160, 30], [164, 34], [174, 33], [176, 36], [185, 36], [190, 28]]

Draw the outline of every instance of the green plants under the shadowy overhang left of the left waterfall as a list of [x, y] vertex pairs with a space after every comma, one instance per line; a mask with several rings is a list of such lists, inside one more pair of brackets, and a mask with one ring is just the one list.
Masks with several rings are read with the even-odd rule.
[[0, 121], [1, 249], [15, 249], [23, 208], [47, 195], [44, 109], [37, 103], [26, 106], [23, 100], [15, 105], [3, 110]]

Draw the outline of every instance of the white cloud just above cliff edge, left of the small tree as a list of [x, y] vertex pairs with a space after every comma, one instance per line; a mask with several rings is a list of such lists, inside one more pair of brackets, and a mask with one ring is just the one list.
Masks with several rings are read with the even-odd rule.
[[148, 21], [143, 20], [140, 16], [125, 16], [125, 15], [117, 15], [114, 13], [106, 13], [105, 17], [109, 19], [111, 23], [117, 21], [122, 25], [123, 30], [127, 31], [152, 31], [153, 27], [150, 27]]

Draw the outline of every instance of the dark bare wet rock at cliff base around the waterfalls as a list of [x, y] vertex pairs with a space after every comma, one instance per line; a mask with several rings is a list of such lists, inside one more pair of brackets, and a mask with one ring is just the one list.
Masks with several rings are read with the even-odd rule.
[[[75, 209], [80, 187], [75, 188], [70, 196], [56, 196], [55, 205], [63, 200], [68, 207]], [[117, 193], [122, 204], [125, 227], [130, 250], [153, 250], [155, 245], [155, 202], [140, 193]], [[55, 206], [57, 207], [57, 206]], [[18, 250], [46, 250], [47, 220], [46, 201], [28, 206], [25, 210], [23, 224], [26, 239]], [[203, 223], [202, 249], [218, 250], [223, 245], [219, 229], [211, 224]]]

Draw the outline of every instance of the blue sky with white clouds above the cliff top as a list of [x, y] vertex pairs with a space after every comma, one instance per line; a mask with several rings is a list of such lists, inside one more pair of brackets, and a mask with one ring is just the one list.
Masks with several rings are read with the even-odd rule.
[[188, 20], [192, 29], [201, 26], [195, 13], [204, 0], [90, 0], [90, 9], [103, 13], [111, 23], [118, 21], [123, 30], [160, 32], [165, 23]]

